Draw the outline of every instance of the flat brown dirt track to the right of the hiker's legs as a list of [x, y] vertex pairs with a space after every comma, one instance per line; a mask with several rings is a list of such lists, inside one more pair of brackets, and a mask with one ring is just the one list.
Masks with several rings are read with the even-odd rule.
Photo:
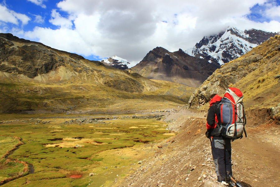
[[[265, 142], [263, 131], [248, 129], [248, 137], [232, 143], [233, 170], [239, 180], [251, 186], [280, 186], [280, 150], [273, 142]], [[239, 150], [239, 151], [238, 151]]]

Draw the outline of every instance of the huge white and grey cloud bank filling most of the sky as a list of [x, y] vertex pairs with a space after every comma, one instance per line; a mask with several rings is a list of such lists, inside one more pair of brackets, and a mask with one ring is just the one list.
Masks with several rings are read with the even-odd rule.
[[[153, 48], [186, 50], [203, 36], [240, 29], [280, 31], [278, 21], [254, 22], [246, 15], [266, 0], [63, 0], [52, 11], [50, 22], [59, 29], [37, 27], [26, 36], [61, 50], [100, 58], [117, 55], [132, 62]], [[271, 5], [269, 8], [275, 8]], [[273, 10], [273, 9], [272, 9]], [[64, 11], [64, 17], [59, 12]], [[271, 15], [277, 16], [277, 10]], [[165, 22], [162, 22], [165, 21]]]

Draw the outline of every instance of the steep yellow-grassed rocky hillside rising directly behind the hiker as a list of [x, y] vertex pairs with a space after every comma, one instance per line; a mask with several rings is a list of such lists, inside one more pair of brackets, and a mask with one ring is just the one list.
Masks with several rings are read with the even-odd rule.
[[207, 109], [204, 105], [212, 93], [221, 96], [228, 87], [244, 93], [248, 111], [269, 115], [280, 121], [280, 36], [271, 37], [245, 55], [216, 70], [193, 93], [189, 107]]

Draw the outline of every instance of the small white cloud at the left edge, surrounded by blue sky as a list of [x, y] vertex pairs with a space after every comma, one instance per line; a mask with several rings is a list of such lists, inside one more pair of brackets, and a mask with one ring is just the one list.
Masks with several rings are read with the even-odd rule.
[[0, 21], [16, 25], [19, 24], [18, 21], [21, 21], [22, 25], [26, 25], [30, 18], [25, 14], [17, 13], [0, 4]]

